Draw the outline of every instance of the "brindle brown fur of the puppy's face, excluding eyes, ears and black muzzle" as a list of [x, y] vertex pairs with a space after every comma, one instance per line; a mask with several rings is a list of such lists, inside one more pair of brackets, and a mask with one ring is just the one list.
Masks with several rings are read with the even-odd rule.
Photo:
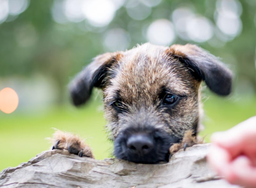
[[[158, 119], [155, 122], [156, 127], [163, 127], [164, 120], [168, 121], [172, 127], [164, 127], [164, 129], [170, 134], [173, 133], [181, 137], [184, 131], [192, 129], [192, 124], [199, 119], [198, 88], [200, 82], [188, 73], [185, 65], [172, 56], [167, 56], [169, 59], [164, 61], [166, 63], [160, 64], [162, 59], [167, 58], [166, 54], [164, 51], [161, 54], [161, 50], [158, 48], [151, 50], [152, 53], [148, 52], [147, 47], [144, 47], [135, 56], [134, 54], [125, 55], [123, 61], [126, 63], [121, 65], [117, 63], [118, 66], [121, 66], [119, 70], [122, 71], [118, 71], [116, 77], [109, 80], [110, 83], [107, 83], [106, 89], [103, 90], [104, 103], [107, 104], [105, 105], [105, 118], [110, 122], [107, 128], [111, 140], [116, 138], [120, 129], [125, 129], [126, 126], [135, 124], [135, 122], [138, 124], [138, 121], [144, 124], [145, 119], [148, 118], [148, 121]], [[171, 66], [167, 63], [170, 61], [173, 62]], [[176, 71], [177, 69], [180, 71]], [[168, 87], [178, 95], [188, 96], [186, 100], [178, 104], [176, 109], [173, 109], [172, 116], [162, 109], [156, 109], [157, 104], [154, 101], [159, 103], [157, 98], [162, 86]], [[118, 117], [113, 112], [113, 107], [108, 105], [113, 100], [116, 90], [119, 90], [124, 105], [128, 106], [131, 112], [129, 116]], [[145, 117], [145, 119], [138, 119], [138, 117]]]

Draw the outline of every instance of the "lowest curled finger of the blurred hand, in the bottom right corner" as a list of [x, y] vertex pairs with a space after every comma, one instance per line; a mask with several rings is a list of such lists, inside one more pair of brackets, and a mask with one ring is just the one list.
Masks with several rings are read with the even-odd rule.
[[249, 158], [239, 156], [231, 162], [230, 167], [232, 173], [224, 174], [230, 183], [256, 187], [256, 167], [252, 166]]

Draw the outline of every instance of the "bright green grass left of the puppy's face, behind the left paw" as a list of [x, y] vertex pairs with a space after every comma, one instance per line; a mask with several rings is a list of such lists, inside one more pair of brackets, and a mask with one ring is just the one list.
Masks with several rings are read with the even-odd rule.
[[65, 106], [43, 113], [0, 112], [0, 170], [27, 162], [48, 150], [51, 144], [45, 138], [54, 133], [52, 127], [84, 138], [97, 159], [110, 157], [112, 144], [107, 141], [106, 121], [100, 107], [99, 103], [93, 102], [84, 108]]

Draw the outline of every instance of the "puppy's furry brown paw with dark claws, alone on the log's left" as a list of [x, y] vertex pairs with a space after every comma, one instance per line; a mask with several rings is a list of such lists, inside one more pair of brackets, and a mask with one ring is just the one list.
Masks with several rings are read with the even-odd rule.
[[94, 158], [92, 150], [77, 135], [57, 130], [53, 134], [52, 149], [66, 149], [69, 153], [79, 155], [80, 157]]

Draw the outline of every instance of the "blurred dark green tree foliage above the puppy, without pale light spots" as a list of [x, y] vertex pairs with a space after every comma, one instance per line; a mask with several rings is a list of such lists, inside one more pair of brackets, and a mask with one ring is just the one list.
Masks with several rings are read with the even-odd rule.
[[[218, 10], [216, 6], [220, 3], [215, 0], [203, 2], [162, 0], [160, 4], [150, 8], [151, 13], [148, 17], [134, 20], [124, 7], [129, 1], [125, 1], [124, 6], [115, 12], [113, 20], [101, 28], [93, 27], [86, 19], [78, 23], [71, 21], [56, 23], [51, 12], [54, 2], [61, 1], [30, 1], [27, 10], [18, 15], [14, 21], [0, 24], [0, 74], [1, 77], [13, 75], [29, 77], [34, 73], [51, 76], [57, 83], [61, 98], [56, 102], [65, 101], [62, 93], [70, 76], [75, 75], [97, 54], [108, 51], [104, 47], [104, 36], [109, 30], [121, 28], [127, 31], [130, 36], [127, 48], [131, 48], [148, 41], [146, 30], [153, 21], [167, 19], [173, 22], [172, 13], [178, 8], [187, 7], [195, 15], [204, 16], [216, 24], [215, 17]], [[221, 41], [216, 38], [220, 32], [215, 29], [212, 41], [207, 40], [197, 44], [221, 57], [231, 69], [236, 71], [236, 77], [249, 83], [255, 93], [256, 4], [252, 0], [232, 2], [236, 2], [238, 8], [241, 6], [241, 33], [234, 39]], [[232, 9], [231, 5], [230, 7]], [[196, 43], [179, 36], [174, 40], [174, 43], [180, 44], [188, 42]], [[212, 42], [217, 46], [213, 46]], [[235, 85], [239, 84], [241, 83]]]

